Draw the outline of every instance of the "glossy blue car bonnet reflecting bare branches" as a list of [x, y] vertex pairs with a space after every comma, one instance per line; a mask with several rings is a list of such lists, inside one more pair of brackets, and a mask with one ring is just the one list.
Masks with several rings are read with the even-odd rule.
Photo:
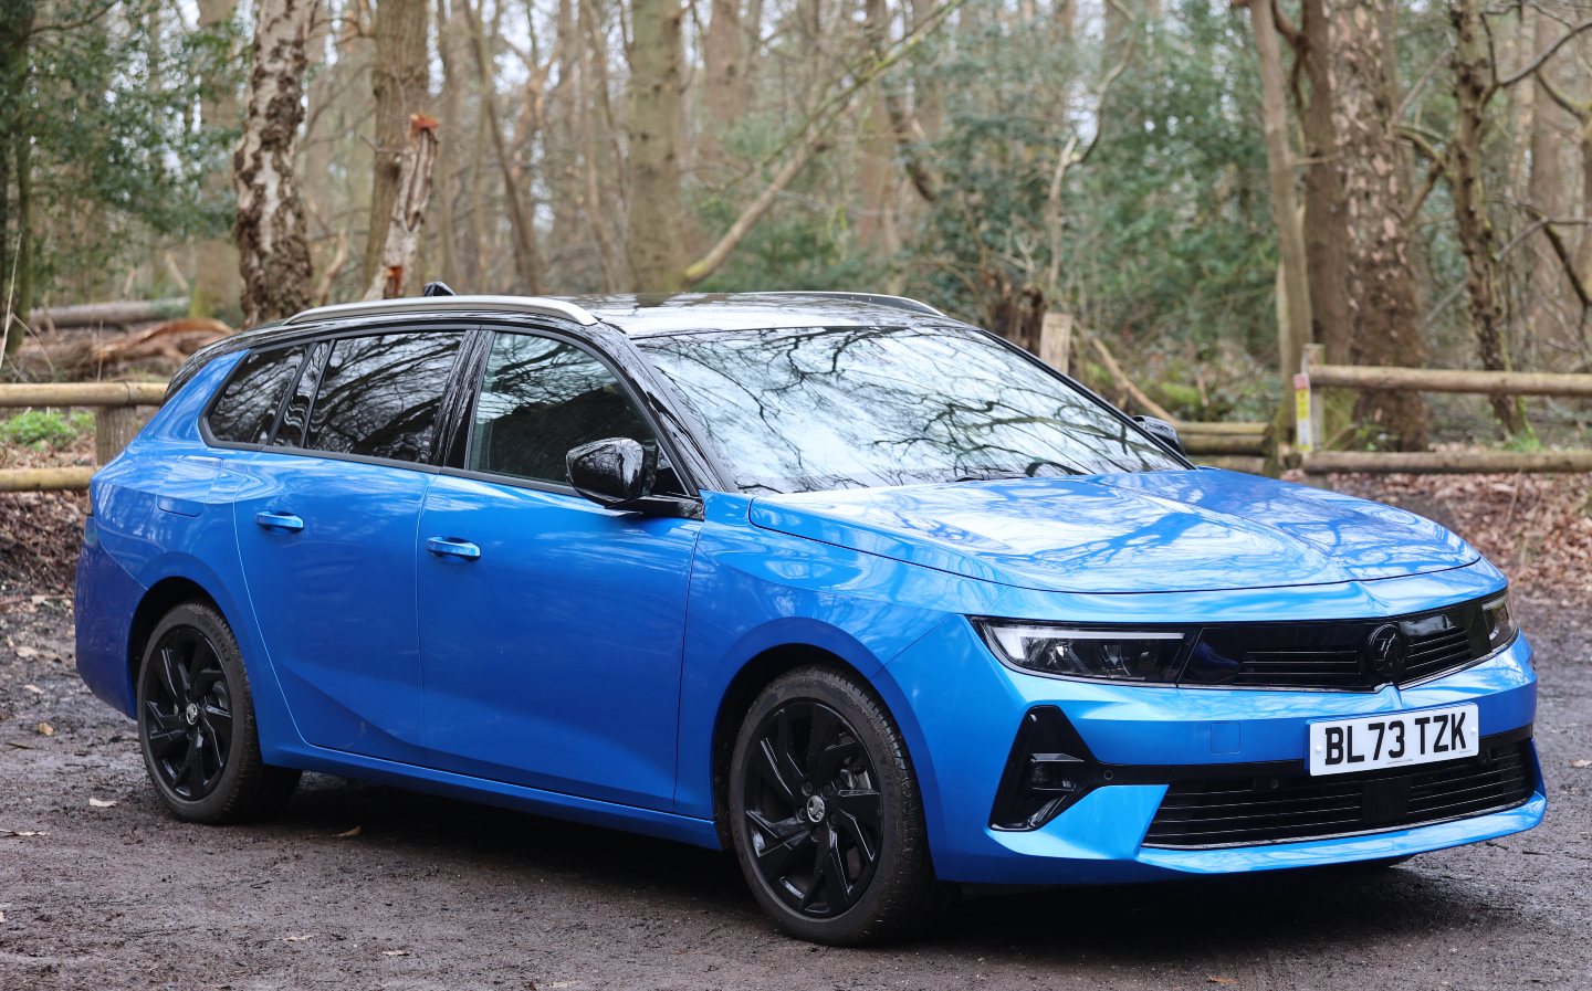
[[1227, 471], [759, 496], [751, 523], [1051, 592], [1207, 592], [1442, 571], [1481, 555], [1403, 509]]

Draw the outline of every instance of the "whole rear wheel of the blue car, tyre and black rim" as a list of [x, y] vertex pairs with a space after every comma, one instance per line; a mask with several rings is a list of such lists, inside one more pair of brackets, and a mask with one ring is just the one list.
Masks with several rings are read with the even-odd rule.
[[166, 614], [139, 668], [139, 743], [166, 806], [189, 822], [275, 813], [299, 771], [259, 759], [255, 705], [237, 639], [205, 603]]

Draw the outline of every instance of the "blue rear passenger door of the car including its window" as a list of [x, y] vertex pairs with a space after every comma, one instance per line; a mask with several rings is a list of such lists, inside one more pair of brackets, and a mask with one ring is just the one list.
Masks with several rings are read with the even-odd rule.
[[250, 601], [317, 746], [420, 762], [416, 527], [468, 329], [312, 344], [244, 466], [234, 506]]

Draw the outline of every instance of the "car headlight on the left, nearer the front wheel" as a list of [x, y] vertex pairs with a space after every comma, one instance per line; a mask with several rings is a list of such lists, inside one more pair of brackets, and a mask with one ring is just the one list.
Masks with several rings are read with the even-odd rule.
[[1048, 624], [974, 620], [995, 655], [1014, 668], [1063, 678], [1170, 684], [1183, 630], [1084, 630]]

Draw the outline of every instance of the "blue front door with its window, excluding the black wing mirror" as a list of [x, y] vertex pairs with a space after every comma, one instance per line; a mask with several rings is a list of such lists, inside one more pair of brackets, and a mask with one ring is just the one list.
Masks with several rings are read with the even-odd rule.
[[495, 337], [468, 471], [420, 515], [425, 746], [447, 770], [670, 810], [699, 523], [575, 495], [565, 452], [607, 437], [656, 442], [600, 361]]

